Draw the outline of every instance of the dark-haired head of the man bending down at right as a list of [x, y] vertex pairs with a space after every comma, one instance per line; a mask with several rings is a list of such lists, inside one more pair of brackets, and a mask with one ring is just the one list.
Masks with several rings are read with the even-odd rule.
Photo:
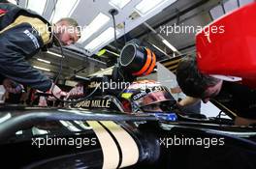
[[204, 102], [217, 96], [222, 86], [222, 80], [200, 72], [196, 59], [191, 56], [178, 63], [176, 81], [184, 94]]

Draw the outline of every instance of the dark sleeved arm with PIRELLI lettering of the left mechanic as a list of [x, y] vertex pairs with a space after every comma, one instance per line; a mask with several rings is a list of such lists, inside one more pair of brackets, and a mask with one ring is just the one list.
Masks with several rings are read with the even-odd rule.
[[21, 23], [0, 34], [0, 73], [18, 83], [46, 92], [51, 80], [25, 60], [44, 45], [38, 32], [28, 23]]

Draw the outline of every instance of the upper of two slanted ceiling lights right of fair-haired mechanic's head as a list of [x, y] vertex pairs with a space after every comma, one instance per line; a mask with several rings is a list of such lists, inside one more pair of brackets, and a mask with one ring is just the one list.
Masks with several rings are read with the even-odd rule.
[[105, 26], [111, 18], [106, 14], [98, 14], [91, 23], [81, 32], [79, 42], [85, 42], [94, 33], [98, 32], [103, 26]]

